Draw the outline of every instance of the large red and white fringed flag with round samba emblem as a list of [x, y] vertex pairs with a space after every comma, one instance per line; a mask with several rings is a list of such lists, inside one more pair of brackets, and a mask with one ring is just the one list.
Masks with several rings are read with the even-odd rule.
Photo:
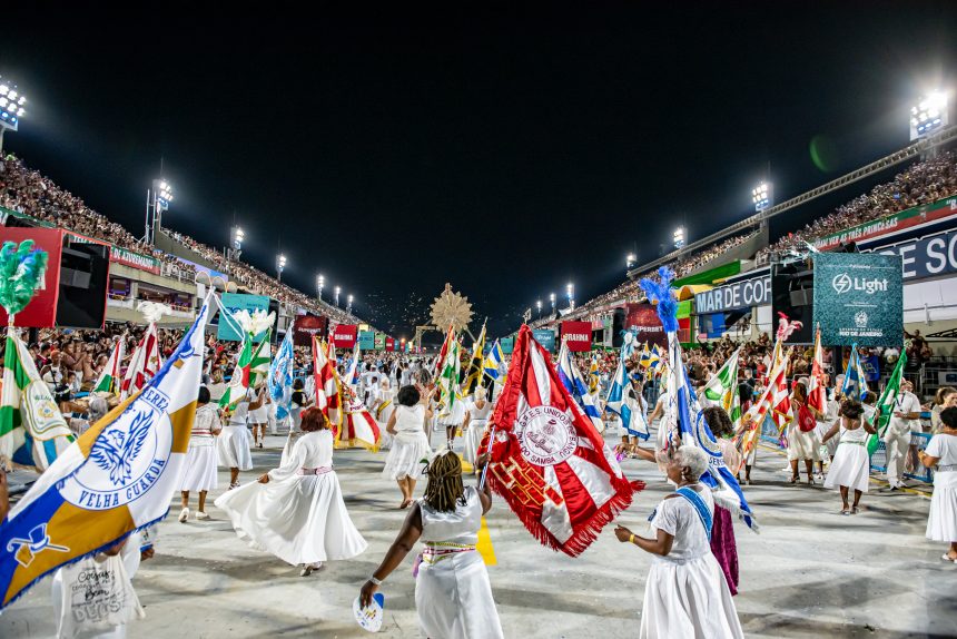
[[544, 545], [581, 554], [644, 488], [629, 482], [523, 325], [492, 417], [487, 481]]

